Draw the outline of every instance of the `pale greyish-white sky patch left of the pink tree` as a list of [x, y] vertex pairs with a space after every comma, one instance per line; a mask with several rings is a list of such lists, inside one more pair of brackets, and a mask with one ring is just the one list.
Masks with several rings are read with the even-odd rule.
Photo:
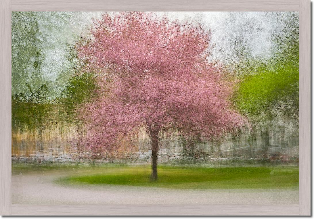
[[39, 27], [43, 35], [41, 65], [46, 80], [54, 81], [60, 69], [68, 64], [67, 44], [73, 44], [77, 37], [87, 32], [92, 20], [100, 18], [101, 12], [39, 12]]

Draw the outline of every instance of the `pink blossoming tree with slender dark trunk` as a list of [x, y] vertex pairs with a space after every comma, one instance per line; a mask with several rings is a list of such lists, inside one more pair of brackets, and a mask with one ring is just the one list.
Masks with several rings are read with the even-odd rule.
[[97, 72], [99, 97], [80, 109], [89, 149], [116, 147], [144, 127], [152, 142], [152, 180], [157, 180], [159, 134], [217, 136], [241, 125], [228, 100], [230, 83], [209, 65], [209, 35], [200, 25], [169, 22], [149, 13], [103, 15], [92, 40], [78, 51]]

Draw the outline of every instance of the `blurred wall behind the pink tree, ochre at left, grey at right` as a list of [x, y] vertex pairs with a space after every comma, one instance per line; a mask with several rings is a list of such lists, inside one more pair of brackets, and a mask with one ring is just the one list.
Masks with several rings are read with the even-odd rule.
[[[78, 128], [64, 122], [55, 123], [49, 127], [37, 127], [29, 130], [23, 126], [12, 128], [12, 154], [29, 157], [38, 152], [47, 153], [51, 148], [60, 148], [63, 153], [73, 153], [77, 150], [76, 139]], [[142, 129], [139, 131], [136, 151], [148, 152], [151, 149], [150, 138]], [[138, 144], [138, 145], [136, 145]], [[185, 139], [177, 132], [160, 136], [160, 148], [168, 148], [170, 153], [200, 152], [213, 157], [223, 157], [225, 151], [235, 145], [249, 145], [254, 149], [265, 145], [280, 145], [290, 156], [298, 154], [298, 126], [291, 121], [278, 120], [254, 127], [242, 127], [235, 134], [228, 134], [217, 140]], [[138, 147], [138, 149], [137, 149]], [[56, 151], [56, 150], [52, 150]]]

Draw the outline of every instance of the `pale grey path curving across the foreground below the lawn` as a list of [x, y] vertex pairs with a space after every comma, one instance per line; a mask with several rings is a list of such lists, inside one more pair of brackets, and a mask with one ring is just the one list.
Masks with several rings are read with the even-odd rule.
[[12, 204], [298, 204], [298, 190], [180, 190], [117, 185], [63, 186], [53, 171], [12, 175]]

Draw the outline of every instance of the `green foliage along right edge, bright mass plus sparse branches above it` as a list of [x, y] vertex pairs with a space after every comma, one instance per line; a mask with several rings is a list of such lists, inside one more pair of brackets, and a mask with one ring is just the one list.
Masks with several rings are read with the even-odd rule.
[[242, 77], [235, 102], [251, 120], [278, 114], [299, 118], [299, 17], [295, 13], [277, 15], [283, 26], [272, 36], [273, 58], [246, 59], [245, 65], [236, 67]]

